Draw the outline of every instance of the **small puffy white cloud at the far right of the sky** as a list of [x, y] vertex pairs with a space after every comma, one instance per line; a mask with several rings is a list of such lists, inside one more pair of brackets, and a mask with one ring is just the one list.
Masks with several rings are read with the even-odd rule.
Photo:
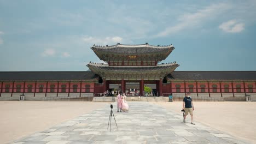
[[237, 20], [230, 20], [227, 22], [223, 22], [219, 25], [219, 28], [224, 32], [228, 33], [238, 33], [245, 29], [245, 23], [238, 23]]

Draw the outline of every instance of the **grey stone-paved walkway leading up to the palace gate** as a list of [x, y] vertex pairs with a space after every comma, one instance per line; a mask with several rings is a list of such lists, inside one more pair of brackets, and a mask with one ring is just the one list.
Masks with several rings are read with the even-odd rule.
[[200, 123], [183, 123], [181, 115], [147, 102], [130, 102], [129, 112], [117, 112], [113, 103], [111, 132], [108, 119], [110, 105], [94, 110], [53, 128], [16, 140], [30, 143], [246, 143]]

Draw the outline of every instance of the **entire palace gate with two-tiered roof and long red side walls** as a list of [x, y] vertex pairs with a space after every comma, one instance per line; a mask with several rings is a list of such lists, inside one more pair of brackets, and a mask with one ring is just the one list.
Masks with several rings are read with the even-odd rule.
[[91, 49], [105, 63], [90, 62], [88, 71], [1, 71], [0, 100], [80, 98], [99, 96], [119, 89], [128, 95], [144, 96], [144, 86], [154, 95], [256, 101], [256, 71], [175, 71], [179, 64], [161, 63], [174, 46], [93, 45]]

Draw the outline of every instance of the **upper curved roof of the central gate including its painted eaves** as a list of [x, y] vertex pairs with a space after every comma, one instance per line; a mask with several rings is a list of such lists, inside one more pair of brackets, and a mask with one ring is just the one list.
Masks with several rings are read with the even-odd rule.
[[164, 60], [175, 47], [171, 45], [165, 46], [154, 46], [148, 43], [142, 45], [123, 45], [118, 43], [117, 45], [111, 46], [98, 46], [93, 45], [91, 49], [96, 53], [96, 55], [103, 61], [114, 61], [117, 56], [130, 56], [136, 55], [137, 59], [152, 59], [153, 61]]

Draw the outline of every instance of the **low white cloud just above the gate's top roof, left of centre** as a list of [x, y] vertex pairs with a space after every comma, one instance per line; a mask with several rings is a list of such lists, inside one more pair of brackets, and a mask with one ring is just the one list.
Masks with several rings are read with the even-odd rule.
[[95, 38], [89, 37], [88, 35], [84, 36], [82, 40], [89, 44], [97, 44], [97, 45], [106, 45], [113, 43], [121, 43], [123, 38], [121, 37], [106, 37], [106, 38]]

